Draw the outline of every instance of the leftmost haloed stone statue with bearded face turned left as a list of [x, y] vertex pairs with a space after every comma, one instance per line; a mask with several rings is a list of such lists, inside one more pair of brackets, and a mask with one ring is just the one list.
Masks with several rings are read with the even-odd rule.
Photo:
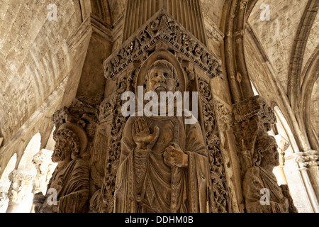
[[[35, 212], [86, 212], [89, 199], [89, 163], [82, 157], [86, 150], [86, 134], [74, 123], [64, 123], [58, 128], [54, 139], [56, 144], [52, 161], [57, 162], [57, 167], [47, 186], [47, 194], [35, 194]], [[57, 201], [56, 204], [54, 200]]]

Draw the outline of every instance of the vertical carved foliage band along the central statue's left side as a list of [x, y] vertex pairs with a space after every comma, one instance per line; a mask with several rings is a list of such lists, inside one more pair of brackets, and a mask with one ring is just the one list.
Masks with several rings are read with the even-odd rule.
[[[121, 114], [123, 101], [121, 96], [126, 91], [133, 91], [135, 70], [125, 72], [116, 80], [116, 92], [104, 99], [100, 105], [99, 130], [94, 148], [94, 159], [100, 163], [96, 169], [103, 182], [97, 184], [98, 190], [91, 199], [91, 212], [113, 212], [113, 193], [115, 190], [116, 171], [121, 151], [121, 137], [127, 118]], [[105, 131], [107, 128], [107, 132]], [[102, 154], [106, 154], [103, 156]], [[102, 155], [102, 156], [101, 156]], [[99, 160], [105, 160], [101, 162]], [[103, 171], [103, 174], [102, 174]], [[105, 177], [104, 177], [105, 176]]]

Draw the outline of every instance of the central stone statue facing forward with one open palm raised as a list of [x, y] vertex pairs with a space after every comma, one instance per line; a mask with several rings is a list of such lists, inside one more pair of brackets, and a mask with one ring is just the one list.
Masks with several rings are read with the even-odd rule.
[[[147, 92], [175, 92], [177, 71], [166, 60], [147, 70]], [[177, 116], [130, 116], [121, 140], [114, 212], [209, 212], [208, 157], [198, 122]]]

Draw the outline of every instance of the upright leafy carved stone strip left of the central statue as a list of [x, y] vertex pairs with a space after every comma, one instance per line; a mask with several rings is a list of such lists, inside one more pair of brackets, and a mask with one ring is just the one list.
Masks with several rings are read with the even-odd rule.
[[[136, 69], [137, 70], [137, 69]], [[121, 95], [124, 92], [133, 91], [133, 77], [136, 70], [130, 70], [121, 74], [116, 81], [116, 92], [112, 96], [104, 99], [100, 105], [99, 122], [101, 123], [101, 134], [108, 134], [108, 147], [103, 148], [103, 153], [107, 154], [105, 162], [105, 179], [101, 191], [96, 192], [101, 194], [98, 198], [97, 205], [94, 209], [103, 212], [113, 212], [113, 193], [116, 182], [116, 171], [118, 170], [118, 162], [121, 152], [121, 137], [123, 128], [127, 118], [121, 114], [123, 100]], [[111, 131], [103, 132], [105, 126], [109, 126]], [[104, 136], [106, 138], [106, 136]], [[96, 202], [96, 201], [95, 201]]]

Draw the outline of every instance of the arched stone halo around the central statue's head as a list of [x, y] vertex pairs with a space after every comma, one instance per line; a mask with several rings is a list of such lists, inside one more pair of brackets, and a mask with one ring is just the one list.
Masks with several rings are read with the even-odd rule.
[[152, 55], [147, 57], [147, 60], [145, 60], [145, 62], [142, 63], [142, 67], [140, 67], [140, 72], [138, 72], [136, 81], [135, 94], [138, 94], [138, 86], [143, 86], [147, 70], [157, 60], [166, 60], [167, 62], [171, 63], [171, 65], [173, 65], [173, 67], [177, 71], [179, 87], [181, 88], [180, 92], [186, 92], [186, 77], [184, 74], [184, 70], [177, 60], [177, 57], [175, 57], [172, 52], [169, 52], [168, 50], [156, 50], [152, 53]]

